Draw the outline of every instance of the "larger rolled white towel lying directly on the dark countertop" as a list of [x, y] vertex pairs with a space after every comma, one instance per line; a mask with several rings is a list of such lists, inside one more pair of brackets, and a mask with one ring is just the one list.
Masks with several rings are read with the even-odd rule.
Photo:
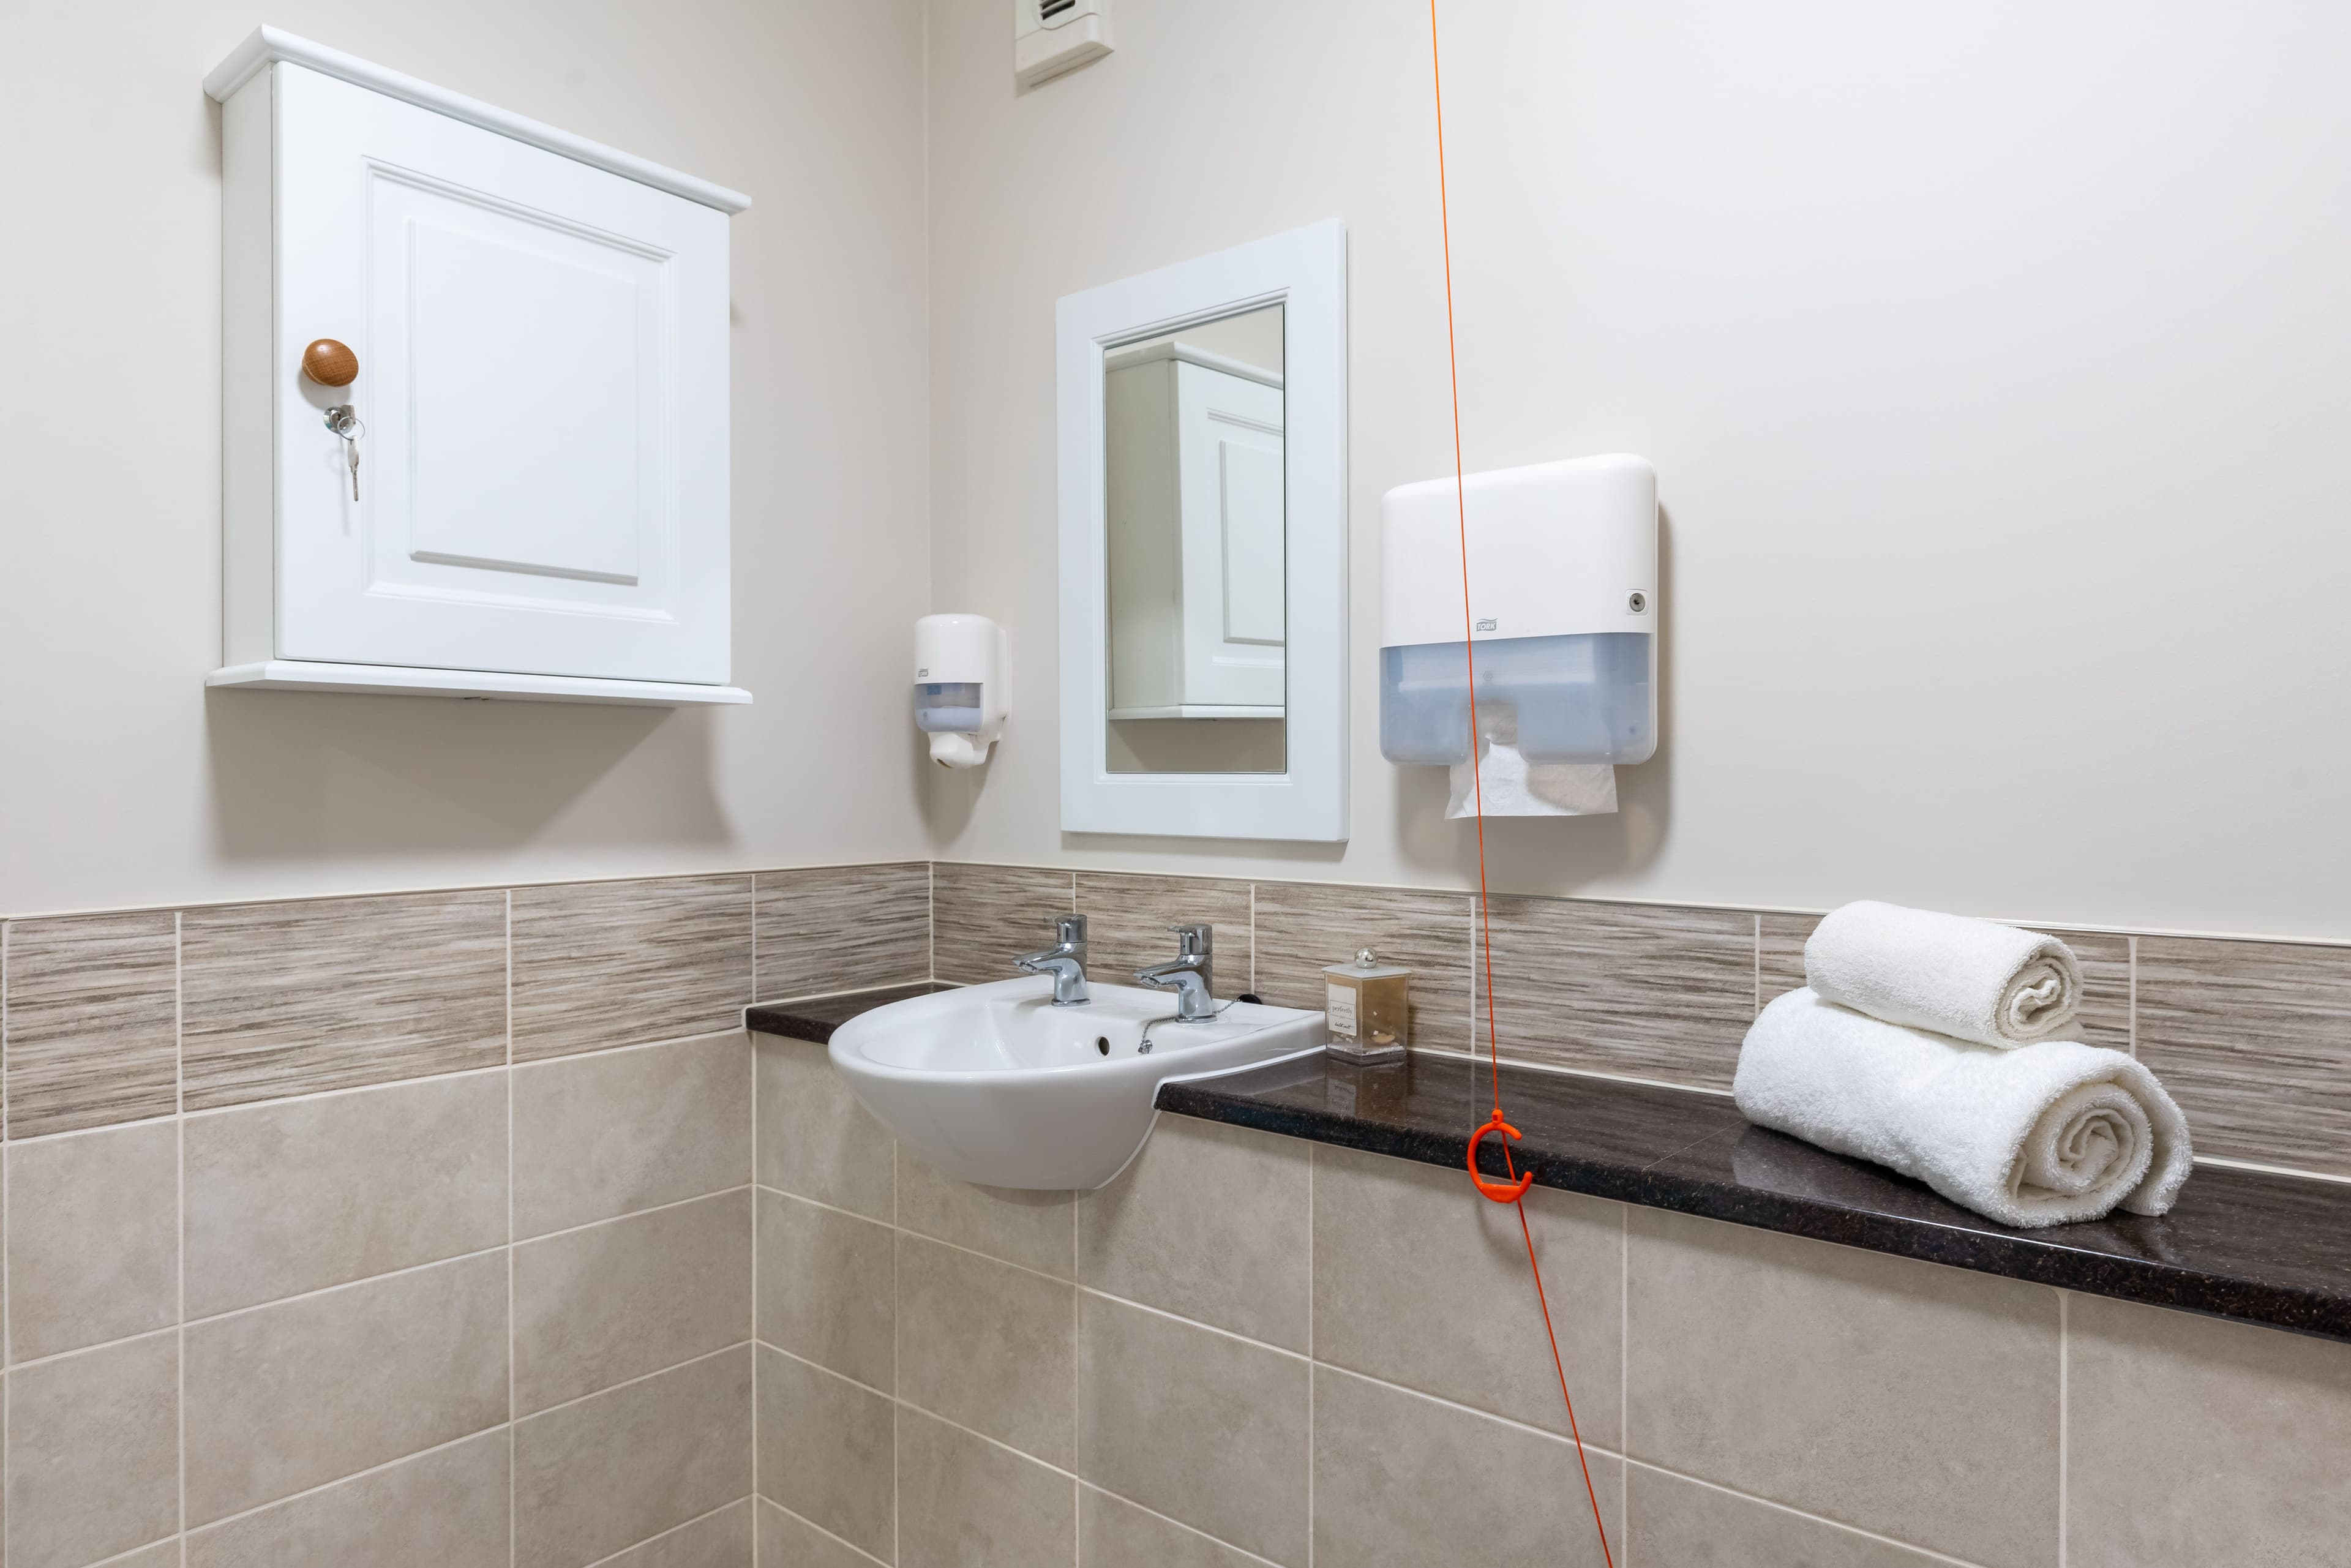
[[2003, 1225], [2165, 1213], [2191, 1164], [2186, 1117], [2121, 1051], [1994, 1051], [1810, 990], [1747, 1030], [1733, 1095], [1756, 1126], [1893, 1166]]

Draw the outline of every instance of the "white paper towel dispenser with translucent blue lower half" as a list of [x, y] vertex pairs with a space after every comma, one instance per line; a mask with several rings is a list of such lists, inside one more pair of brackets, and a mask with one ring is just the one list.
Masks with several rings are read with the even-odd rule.
[[1472, 762], [1465, 536], [1488, 738], [1509, 717], [1528, 762], [1646, 762], [1657, 750], [1657, 470], [1625, 454], [1387, 491], [1380, 755]]

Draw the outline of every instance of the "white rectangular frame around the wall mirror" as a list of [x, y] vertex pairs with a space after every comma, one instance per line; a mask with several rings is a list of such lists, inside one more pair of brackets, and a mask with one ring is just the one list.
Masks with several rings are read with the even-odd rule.
[[[1281, 773], [1112, 773], [1103, 353], [1284, 306], [1286, 722]], [[1347, 230], [1314, 223], [1067, 294], [1060, 430], [1060, 827], [1347, 837]]]

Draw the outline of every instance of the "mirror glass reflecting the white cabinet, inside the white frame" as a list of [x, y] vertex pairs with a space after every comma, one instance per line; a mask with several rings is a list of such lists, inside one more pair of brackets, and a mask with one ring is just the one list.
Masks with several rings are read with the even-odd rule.
[[1112, 773], [1281, 773], [1281, 306], [1103, 357]]

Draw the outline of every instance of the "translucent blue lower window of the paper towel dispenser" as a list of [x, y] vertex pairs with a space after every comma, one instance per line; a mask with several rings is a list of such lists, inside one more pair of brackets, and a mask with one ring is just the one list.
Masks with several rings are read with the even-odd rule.
[[[1488, 703], [1507, 703], [1528, 762], [1646, 762], [1657, 750], [1650, 646], [1648, 632], [1479, 642], [1479, 719], [1488, 719]], [[1380, 755], [1469, 762], [1469, 663], [1460, 642], [1380, 649]]]

